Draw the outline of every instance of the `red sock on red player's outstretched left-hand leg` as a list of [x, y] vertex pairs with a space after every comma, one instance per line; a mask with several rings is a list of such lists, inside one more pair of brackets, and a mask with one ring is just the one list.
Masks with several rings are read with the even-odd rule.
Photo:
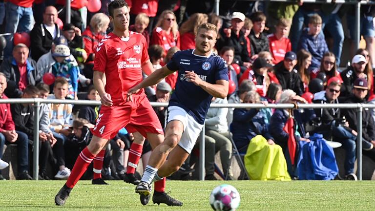
[[93, 155], [87, 149], [87, 147], [82, 150], [76, 160], [76, 163], [74, 164], [68, 180], [66, 181], [66, 186], [68, 188], [73, 188], [77, 184], [78, 180], [80, 180], [81, 176], [86, 171], [88, 165], [90, 165], [94, 157], [95, 155]]

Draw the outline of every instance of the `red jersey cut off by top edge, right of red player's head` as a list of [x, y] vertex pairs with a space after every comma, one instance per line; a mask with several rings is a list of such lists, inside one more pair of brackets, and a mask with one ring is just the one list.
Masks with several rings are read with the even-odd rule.
[[148, 17], [155, 17], [158, 11], [158, 0], [125, 0], [130, 8], [130, 14], [146, 13]]

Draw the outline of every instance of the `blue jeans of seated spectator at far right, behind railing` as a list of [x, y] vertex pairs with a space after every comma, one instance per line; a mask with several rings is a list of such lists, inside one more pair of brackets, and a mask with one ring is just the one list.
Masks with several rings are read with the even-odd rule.
[[342, 126], [333, 127], [332, 134], [334, 134], [333, 141], [340, 142], [342, 144], [342, 147], [345, 149], [345, 175], [353, 173], [356, 156], [355, 146], [357, 137]]

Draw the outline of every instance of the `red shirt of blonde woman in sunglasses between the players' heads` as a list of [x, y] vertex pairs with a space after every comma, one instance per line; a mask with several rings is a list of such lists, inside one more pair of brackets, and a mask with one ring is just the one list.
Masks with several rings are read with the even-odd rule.
[[158, 44], [162, 46], [167, 54], [167, 51], [171, 47], [177, 46], [180, 48], [180, 33], [177, 32], [175, 37], [172, 31], [168, 35], [166, 30], [164, 30], [162, 27], [157, 27], [152, 31], [151, 44]]

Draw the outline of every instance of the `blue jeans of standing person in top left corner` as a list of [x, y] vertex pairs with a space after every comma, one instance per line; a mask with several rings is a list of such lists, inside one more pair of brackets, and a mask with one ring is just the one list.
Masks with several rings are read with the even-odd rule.
[[[21, 7], [11, 2], [6, 3], [6, 33], [29, 32], [34, 27], [33, 9], [31, 7]], [[4, 58], [12, 56], [13, 36], [6, 36], [6, 47]]]

